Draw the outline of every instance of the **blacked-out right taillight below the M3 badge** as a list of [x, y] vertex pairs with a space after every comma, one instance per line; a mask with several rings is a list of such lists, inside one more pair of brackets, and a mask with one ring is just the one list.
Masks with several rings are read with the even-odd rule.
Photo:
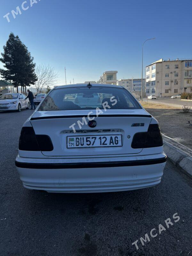
[[135, 133], [132, 148], [154, 148], [163, 146], [163, 139], [158, 124], [149, 124], [147, 132]]

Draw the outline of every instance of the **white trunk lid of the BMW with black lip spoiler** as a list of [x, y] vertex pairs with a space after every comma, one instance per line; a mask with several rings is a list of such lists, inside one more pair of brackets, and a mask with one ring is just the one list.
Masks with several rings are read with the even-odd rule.
[[[53, 144], [52, 151], [43, 151], [45, 156], [101, 156], [101, 155], [126, 155], [138, 154], [142, 148], [131, 147], [132, 139], [137, 132], [147, 132], [152, 117], [144, 109], [108, 110], [106, 113], [96, 115], [92, 110], [90, 118], [97, 122], [96, 127], [88, 125], [87, 115], [91, 110], [37, 111], [30, 122], [36, 134], [48, 135]], [[83, 121], [84, 118], [84, 121]], [[86, 122], [85, 122], [86, 120]], [[80, 121], [80, 127], [78, 125]], [[84, 124], [82, 124], [84, 123]], [[87, 124], [86, 124], [87, 123]], [[73, 131], [69, 128], [74, 124]], [[67, 148], [68, 136], [94, 136], [94, 135], [120, 135], [122, 146], [118, 147], [92, 147], [92, 148]]]

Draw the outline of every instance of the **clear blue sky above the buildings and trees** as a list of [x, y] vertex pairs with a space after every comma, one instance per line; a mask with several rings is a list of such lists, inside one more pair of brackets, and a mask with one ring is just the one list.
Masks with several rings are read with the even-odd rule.
[[[28, 47], [36, 64], [50, 64], [60, 74], [58, 84], [98, 80], [106, 70], [117, 78], [141, 77], [144, 66], [158, 60], [192, 58], [192, 1], [186, 0], [1, 0], [0, 52], [10, 32]], [[31, 0], [34, 1], [34, 0]], [[20, 6], [21, 15], [11, 11]], [[5, 14], [10, 12], [8, 23]], [[2, 67], [2, 63], [0, 63]]]

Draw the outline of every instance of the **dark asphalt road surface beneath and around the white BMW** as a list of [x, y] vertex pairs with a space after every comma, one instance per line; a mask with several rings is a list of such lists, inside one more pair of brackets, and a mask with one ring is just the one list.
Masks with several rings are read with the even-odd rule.
[[[14, 160], [32, 112], [0, 113], [0, 256], [192, 255], [192, 179], [170, 162], [158, 186], [141, 190], [70, 195], [23, 188]], [[166, 230], [150, 237], [159, 224]], [[146, 233], [150, 242], [142, 246]]]

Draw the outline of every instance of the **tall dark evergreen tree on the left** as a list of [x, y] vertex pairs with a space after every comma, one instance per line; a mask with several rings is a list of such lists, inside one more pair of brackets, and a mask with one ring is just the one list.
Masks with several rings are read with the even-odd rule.
[[4, 63], [5, 69], [0, 68], [1, 76], [6, 81], [10, 81], [17, 88], [17, 92], [18, 86], [24, 88], [24, 86], [35, 84], [37, 81], [35, 63], [19, 36], [11, 33], [3, 49], [4, 53], [1, 53], [0, 61]]

